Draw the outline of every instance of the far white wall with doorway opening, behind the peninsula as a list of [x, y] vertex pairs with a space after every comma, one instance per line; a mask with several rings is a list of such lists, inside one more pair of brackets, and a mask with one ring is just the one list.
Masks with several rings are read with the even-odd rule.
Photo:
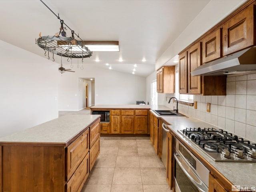
[[78, 78], [95, 78], [95, 105], [136, 104], [136, 100], [146, 99], [146, 78], [86, 64], [84, 70], [60, 76], [59, 110], [80, 109]]

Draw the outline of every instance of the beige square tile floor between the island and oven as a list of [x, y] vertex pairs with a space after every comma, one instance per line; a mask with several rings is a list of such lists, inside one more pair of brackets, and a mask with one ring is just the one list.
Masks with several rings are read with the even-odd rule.
[[149, 137], [100, 137], [100, 155], [82, 192], [171, 192]]

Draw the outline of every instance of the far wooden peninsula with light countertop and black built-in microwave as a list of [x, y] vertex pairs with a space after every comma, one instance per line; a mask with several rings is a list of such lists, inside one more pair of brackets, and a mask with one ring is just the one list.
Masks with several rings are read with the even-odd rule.
[[150, 134], [149, 110], [170, 110], [163, 105], [96, 105], [90, 109], [91, 114], [104, 112], [101, 116], [100, 133], [107, 135]]

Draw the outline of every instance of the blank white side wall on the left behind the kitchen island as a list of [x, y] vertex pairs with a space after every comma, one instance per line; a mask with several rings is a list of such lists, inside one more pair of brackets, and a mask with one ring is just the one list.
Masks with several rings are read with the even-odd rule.
[[58, 75], [58, 64], [0, 40], [0, 137], [58, 118]]

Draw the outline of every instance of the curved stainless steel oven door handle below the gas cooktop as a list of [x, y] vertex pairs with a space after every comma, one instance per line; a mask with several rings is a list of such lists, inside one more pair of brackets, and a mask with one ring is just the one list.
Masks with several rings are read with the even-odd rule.
[[200, 192], [208, 192], [208, 187], [200, 180], [200, 178], [194, 173], [194, 171], [188, 166], [188, 164], [180, 157], [179, 154], [174, 153], [174, 158], [180, 165], [180, 168], [186, 174], [186, 176], [191, 180], [191, 182], [198, 188]]

